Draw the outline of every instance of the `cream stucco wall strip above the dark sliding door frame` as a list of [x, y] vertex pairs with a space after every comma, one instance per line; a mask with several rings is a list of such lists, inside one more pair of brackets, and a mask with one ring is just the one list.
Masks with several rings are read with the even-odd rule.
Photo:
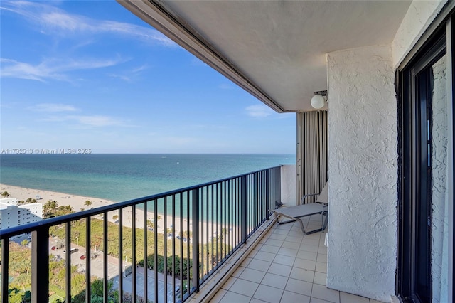
[[412, 1], [392, 41], [392, 58], [395, 67], [400, 65], [446, 2], [447, 0]]

